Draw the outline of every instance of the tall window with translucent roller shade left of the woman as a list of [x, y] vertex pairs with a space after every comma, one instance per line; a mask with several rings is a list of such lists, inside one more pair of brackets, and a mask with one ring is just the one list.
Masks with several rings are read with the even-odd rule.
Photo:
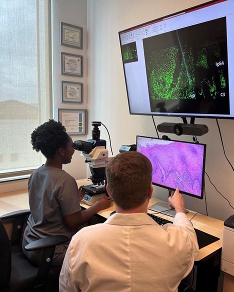
[[50, 0], [0, 0], [0, 179], [44, 162], [30, 133], [51, 117]]

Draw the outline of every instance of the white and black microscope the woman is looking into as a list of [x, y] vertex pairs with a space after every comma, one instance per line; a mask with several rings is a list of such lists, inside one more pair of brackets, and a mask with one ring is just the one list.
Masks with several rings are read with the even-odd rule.
[[92, 184], [83, 186], [85, 190], [82, 201], [88, 205], [94, 204], [98, 199], [106, 196], [105, 188], [105, 166], [110, 158], [108, 158], [108, 150], [106, 149], [106, 141], [100, 139], [99, 126], [100, 121], [92, 121], [92, 138], [87, 141], [76, 140], [73, 142], [73, 148], [81, 151], [81, 156], [85, 158], [85, 162], [89, 164], [91, 172], [90, 179]]

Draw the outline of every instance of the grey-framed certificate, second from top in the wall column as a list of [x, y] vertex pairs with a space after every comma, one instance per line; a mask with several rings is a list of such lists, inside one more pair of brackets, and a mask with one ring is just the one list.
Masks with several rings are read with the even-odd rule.
[[74, 53], [61, 52], [61, 74], [83, 76], [83, 56]]

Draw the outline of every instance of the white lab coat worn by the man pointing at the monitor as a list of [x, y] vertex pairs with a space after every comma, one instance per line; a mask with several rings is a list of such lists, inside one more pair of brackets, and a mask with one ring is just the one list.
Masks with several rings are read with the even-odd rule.
[[145, 213], [115, 213], [79, 230], [68, 246], [60, 292], [175, 292], [198, 253], [184, 213], [159, 226]]

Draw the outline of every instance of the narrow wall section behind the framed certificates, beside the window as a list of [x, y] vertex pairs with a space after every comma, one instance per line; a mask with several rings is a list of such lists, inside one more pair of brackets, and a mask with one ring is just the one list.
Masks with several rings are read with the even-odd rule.
[[[60, 21], [83, 27], [83, 49], [60, 45]], [[60, 52], [83, 55], [83, 77], [60, 74]], [[57, 108], [86, 109], [88, 106], [87, 90], [87, 0], [52, 0], [52, 74], [53, 74], [53, 111], [57, 120]], [[83, 82], [83, 104], [61, 103], [60, 80]], [[87, 136], [71, 136], [74, 140], [86, 140]], [[75, 179], [86, 177], [86, 164], [80, 152], [75, 151], [70, 164], [63, 169]]]

